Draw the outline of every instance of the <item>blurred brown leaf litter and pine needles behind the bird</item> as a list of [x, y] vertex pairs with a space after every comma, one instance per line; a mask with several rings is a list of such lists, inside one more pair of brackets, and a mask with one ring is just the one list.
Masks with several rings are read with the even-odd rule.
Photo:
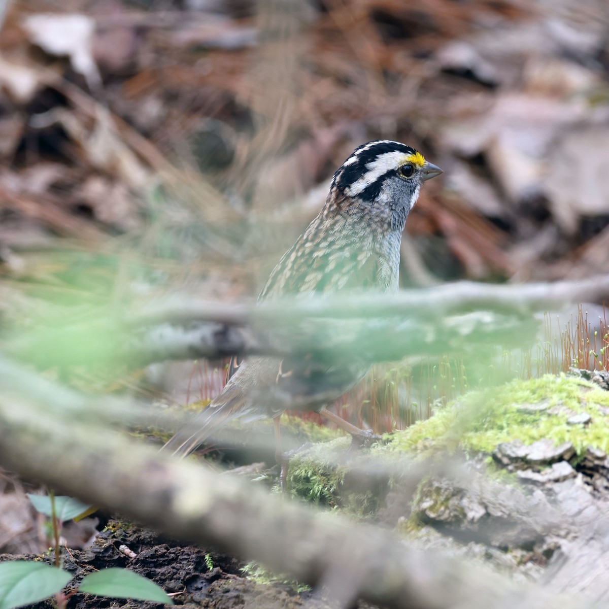
[[[604, 0], [9, 3], [0, 336], [86, 327], [178, 290], [255, 296], [336, 167], [375, 138], [445, 170], [407, 222], [403, 287], [605, 272], [607, 40]], [[524, 377], [609, 368], [606, 337], [594, 359], [595, 328], [573, 313], [562, 336], [565, 320], [545, 334], [540, 320], [535, 355], [377, 367], [339, 410], [389, 431], [501, 380], [501, 362]], [[224, 362], [45, 373], [185, 403], [213, 398]]]

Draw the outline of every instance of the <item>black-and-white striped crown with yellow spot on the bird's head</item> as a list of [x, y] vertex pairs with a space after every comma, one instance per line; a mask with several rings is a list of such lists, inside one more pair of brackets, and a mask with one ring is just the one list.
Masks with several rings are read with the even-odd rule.
[[407, 163], [423, 166], [425, 159], [414, 148], [390, 139], [368, 142], [356, 148], [339, 167], [332, 186], [349, 197], [378, 194], [379, 178]]

